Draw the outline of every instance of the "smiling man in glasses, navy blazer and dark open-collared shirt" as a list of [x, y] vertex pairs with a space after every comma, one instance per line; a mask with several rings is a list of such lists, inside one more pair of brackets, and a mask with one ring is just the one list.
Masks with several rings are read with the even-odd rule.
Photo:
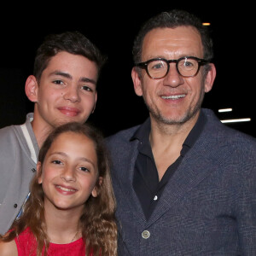
[[216, 75], [206, 28], [162, 13], [133, 55], [149, 119], [108, 138], [119, 255], [255, 255], [256, 142], [201, 108]]

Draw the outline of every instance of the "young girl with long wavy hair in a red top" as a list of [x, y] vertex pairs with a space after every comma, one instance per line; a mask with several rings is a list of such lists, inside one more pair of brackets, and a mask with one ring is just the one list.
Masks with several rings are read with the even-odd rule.
[[117, 255], [109, 160], [98, 131], [61, 125], [37, 167], [23, 214], [0, 238], [0, 255]]

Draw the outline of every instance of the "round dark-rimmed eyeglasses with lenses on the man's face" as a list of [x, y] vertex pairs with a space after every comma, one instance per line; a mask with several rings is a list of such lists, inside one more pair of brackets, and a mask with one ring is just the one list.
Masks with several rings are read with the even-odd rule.
[[135, 64], [136, 67], [146, 69], [150, 79], [163, 79], [169, 72], [170, 63], [176, 63], [177, 73], [185, 78], [194, 77], [201, 66], [210, 61], [199, 59], [193, 56], [182, 57], [177, 60], [166, 60], [155, 58], [145, 62]]

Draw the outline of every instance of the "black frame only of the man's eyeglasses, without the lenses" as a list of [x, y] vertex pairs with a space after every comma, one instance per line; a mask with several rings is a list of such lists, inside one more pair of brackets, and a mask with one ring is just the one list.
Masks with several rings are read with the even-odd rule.
[[[178, 62], [179, 62], [179, 61], [182, 61], [182, 60], [185, 60], [185, 59], [193, 59], [193, 60], [197, 61], [197, 63], [198, 63], [197, 71], [196, 71], [196, 73], [195, 73], [193, 76], [183, 76], [183, 75], [179, 72], [179, 70], [178, 70], [178, 67], [177, 67]], [[151, 77], [151, 75], [148, 73], [148, 63], [150, 63], [150, 62], [152, 62], [152, 61], [165, 61], [165, 62], [167, 63], [167, 67], [168, 67], [168, 68], [167, 68], [166, 74], [165, 74], [163, 77], [161, 77], [161, 78], [153, 78], [153, 77]], [[136, 63], [136, 64], [135, 64], [135, 67], [140, 67], [140, 68], [145, 69], [146, 72], [148, 73], [148, 77], [149, 77], [150, 79], [163, 79], [163, 78], [166, 77], [167, 73], [168, 73], [169, 70], [170, 70], [170, 63], [173, 63], [173, 62], [176, 63], [176, 70], [177, 70], [177, 73], [178, 73], [179, 75], [181, 75], [183, 78], [192, 78], [192, 77], [195, 77], [195, 76], [197, 75], [197, 73], [199, 72], [199, 69], [200, 69], [201, 66], [204, 66], [204, 65], [210, 63], [211, 61], [207, 61], [207, 60], [204, 60], [204, 59], [200, 59], [200, 58], [197, 58], [197, 57], [194, 57], [194, 56], [184, 56], [184, 57], [181, 57], [181, 58], [179, 58], [179, 59], [177, 59], [177, 60], [166, 60], [166, 59], [164, 59], [164, 58], [154, 58], [154, 59], [150, 59], [150, 60], [148, 60], [148, 61]]]

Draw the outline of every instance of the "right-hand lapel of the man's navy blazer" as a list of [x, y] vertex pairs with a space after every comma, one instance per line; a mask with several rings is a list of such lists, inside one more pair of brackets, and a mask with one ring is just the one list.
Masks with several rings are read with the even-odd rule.
[[212, 173], [212, 169], [216, 170], [222, 164], [219, 162], [218, 156], [214, 154], [216, 150], [207, 149], [208, 145], [215, 145], [215, 142], [216, 137], [208, 139], [207, 142], [200, 139], [193, 148], [189, 149], [182, 163], [166, 184], [160, 201], [148, 220], [148, 225], [153, 224], [166, 211], [175, 207], [177, 201], [181, 200], [184, 195], [187, 195], [190, 190], [194, 189], [203, 179], [209, 176]]

